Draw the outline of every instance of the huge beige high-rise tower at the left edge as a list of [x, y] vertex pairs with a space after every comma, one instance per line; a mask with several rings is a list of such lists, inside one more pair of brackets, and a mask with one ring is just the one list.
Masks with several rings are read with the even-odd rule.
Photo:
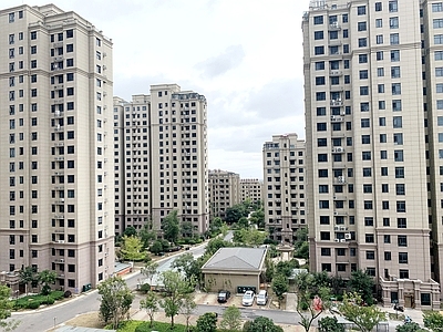
[[112, 42], [48, 4], [0, 11], [0, 270], [81, 291], [114, 272]]

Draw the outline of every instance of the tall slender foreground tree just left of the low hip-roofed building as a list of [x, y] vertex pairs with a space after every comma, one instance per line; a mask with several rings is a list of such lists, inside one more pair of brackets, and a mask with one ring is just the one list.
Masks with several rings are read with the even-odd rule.
[[174, 329], [174, 318], [179, 313], [183, 300], [194, 290], [194, 286], [189, 284], [181, 272], [171, 270], [162, 273], [162, 283], [165, 297], [159, 304], [165, 310], [166, 317], [171, 318], [171, 329]]

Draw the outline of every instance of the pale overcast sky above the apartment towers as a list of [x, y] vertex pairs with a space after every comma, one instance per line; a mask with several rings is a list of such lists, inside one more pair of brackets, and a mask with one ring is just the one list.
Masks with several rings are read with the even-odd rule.
[[262, 178], [276, 134], [305, 138], [301, 15], [309, 0], [2, 0], [54, 3], [114, 43], [114, 95], [177, 83], [208, 102], [209, 168]]

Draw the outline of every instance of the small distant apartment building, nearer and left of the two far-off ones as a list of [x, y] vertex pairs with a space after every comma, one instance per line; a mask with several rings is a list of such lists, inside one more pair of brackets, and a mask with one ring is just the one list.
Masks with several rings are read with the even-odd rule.
[[240, 201], [240, 176], [228, 170], [209, 170], [210, 217], [225, 218], [226, 209]]

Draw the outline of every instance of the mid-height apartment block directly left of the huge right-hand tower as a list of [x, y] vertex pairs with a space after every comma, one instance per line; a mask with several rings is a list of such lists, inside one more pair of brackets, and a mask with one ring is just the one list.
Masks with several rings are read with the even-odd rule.
[[307, 227], [305, 154], [297, 134], [274, 135], [262, 148], [265, 226], [282, 243], [292, 243], [297, 229]]

